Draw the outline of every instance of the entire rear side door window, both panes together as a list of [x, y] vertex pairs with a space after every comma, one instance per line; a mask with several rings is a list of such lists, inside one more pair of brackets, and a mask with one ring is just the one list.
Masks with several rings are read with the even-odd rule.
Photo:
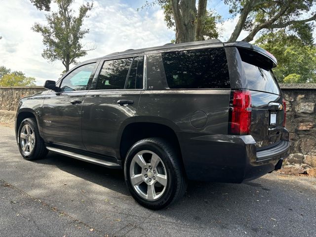
[[105, 61], [96, 90], [143, 88], [144, 56]]

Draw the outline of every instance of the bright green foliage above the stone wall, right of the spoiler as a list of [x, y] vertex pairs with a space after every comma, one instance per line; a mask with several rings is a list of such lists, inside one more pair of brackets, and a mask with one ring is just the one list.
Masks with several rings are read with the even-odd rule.
[[316, 46], [307, 44], [295, 34], [285, 30], [261, 36], [256, 43], [271, 52], [277, 59], [274, 69], [281, 83], [316, 82]]

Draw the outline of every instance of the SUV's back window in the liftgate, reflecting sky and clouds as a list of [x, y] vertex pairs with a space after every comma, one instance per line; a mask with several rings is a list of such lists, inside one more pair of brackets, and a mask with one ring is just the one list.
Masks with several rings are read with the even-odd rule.
[[260, 54], [240, 50], [242, 66], [248, 83], [248, 89], [280, 94], [276, 77], [270, 69], [268, 58]]

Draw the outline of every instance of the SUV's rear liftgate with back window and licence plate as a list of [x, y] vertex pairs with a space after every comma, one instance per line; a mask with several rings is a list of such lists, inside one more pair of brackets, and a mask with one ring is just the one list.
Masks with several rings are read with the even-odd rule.
[[246, 85], [251, 95], [249, 134], [256, 141], [257, 151], [280, 143], [285, 125], [285, 104], [270, 59], [253, 50], [238, 48]]

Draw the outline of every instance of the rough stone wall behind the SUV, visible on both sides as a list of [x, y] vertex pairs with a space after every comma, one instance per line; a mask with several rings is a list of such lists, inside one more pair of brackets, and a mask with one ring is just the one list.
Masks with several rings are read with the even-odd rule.
[[[286, 128], [291, 155], [287, 166], [298, 173], [316, 168], [316, 84], [281, 84], [286, 100]], [[21, 97], [44, 90], [35, 87], [0, 87], [0, 110], [15, 111]]]

